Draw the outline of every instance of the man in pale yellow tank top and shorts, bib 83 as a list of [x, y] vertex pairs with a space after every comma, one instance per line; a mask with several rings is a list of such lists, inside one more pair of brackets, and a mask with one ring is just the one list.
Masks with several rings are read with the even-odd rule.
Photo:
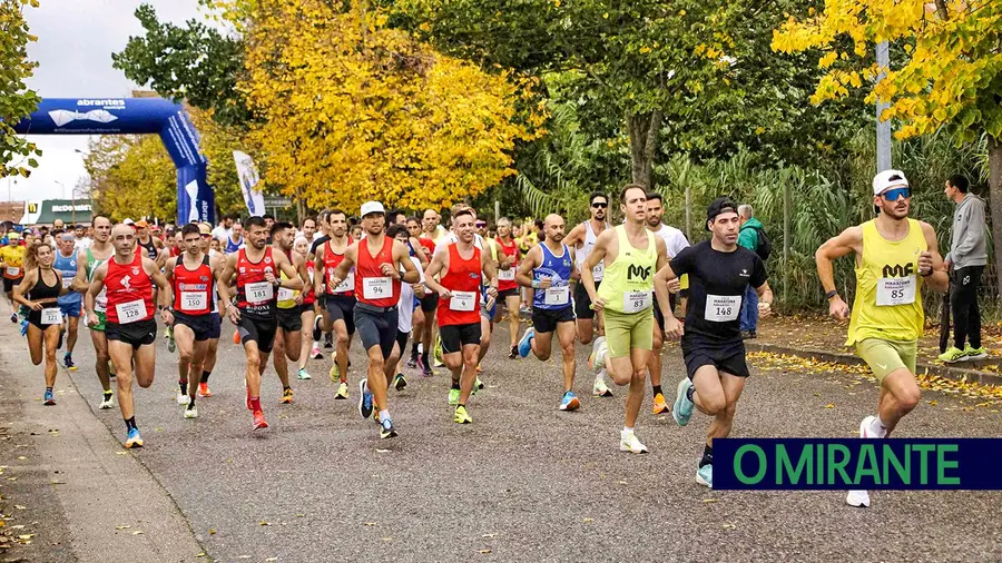
[[[592, 201], [601, 203], [598, 198]], [[654, 277], [668, 256], [665, 241], [644, 227], [647, 191], [642, 186], [627, 184], [619, 192], [619, 208], [625, 224], [596, 238], [581, 267], [581, 283], [595, 310], [605, 313], [606, 336], [596, 338], [592, 345], [592, 366], [599, 374], [608, 371], [616, 385], [630, 386], [619, 450], [641, 454], [648, 448], [633, 434], [633, 426], [644, 403], [645, 372], [651, 353]], [[595, 209], [592, 206], [592, 214]], [[599, 265], [606, 274], [601, 288], [595, 280]], [[576, 310], [580, 308], [576, 304]]]

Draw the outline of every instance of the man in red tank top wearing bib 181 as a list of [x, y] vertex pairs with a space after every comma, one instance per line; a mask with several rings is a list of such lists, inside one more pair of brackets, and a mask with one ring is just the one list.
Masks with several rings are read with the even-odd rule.
[[[268, 228], [262, 217], [247, 220], [246, 248], [226, 257], [226, 267], [219, 276], [219, 298], [227, 303], [229, 322], [237, 327], [244, 354], [247, 356], [245, 379], [247, 383], [247, 409], [254, 415], [254, 429], [267, 428], [261, 408], [261, 377], [268, 367], [268, 355], [275, 344], [278, 329], [276, 297], [278, 288], [302, 289], [303, 279], [283, 253], [267, 246]], [[279, 279], [275, 271], [285, 274]], [[236, 303], [229, 289], [236, 275]], [[283, 395], [284, 396], [284, 395]]]

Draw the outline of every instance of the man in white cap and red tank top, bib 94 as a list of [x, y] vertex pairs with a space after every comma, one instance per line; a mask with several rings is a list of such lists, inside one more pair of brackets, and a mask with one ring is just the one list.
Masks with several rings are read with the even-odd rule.
[[[397, 303], [401, 283], [414, 284], [421, 278], [413, 263], [407, 258], [407, 247], [387, 238], [383, 228], [386, 210], [379, 201], [362, 205], [362, 228], [365, 238], [352, 244], [345, 250], [341, 264], [334, 268], [330, 287], [338, 287], [353, 266], [355, 304], [354, 320], [362, 337], [362, 345], [369, 355], [367, 381], [358, 382], [358, 414], [369, 418], [373, 413], [373, 402], [379, 411], [380, 437], [396, 436], [396, 428], [390, 416], [386, 401], [386, 382], [393, 376], [386, 360], [396, 344]], [[356, 266], [357, 265], [357, 266]], [[403, 274], [401, 274], [403, 270]]]

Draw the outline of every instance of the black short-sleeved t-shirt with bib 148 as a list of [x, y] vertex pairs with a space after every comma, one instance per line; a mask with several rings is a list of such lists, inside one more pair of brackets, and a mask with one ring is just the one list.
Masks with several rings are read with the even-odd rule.
[[768, 278], [762, 258], [740, 246], [721, 253], [707, 240], [682, 249], [670, 265], [676, 275], [689, 275], [684, 343], [739, 342], [745, 289], [760, 287]]

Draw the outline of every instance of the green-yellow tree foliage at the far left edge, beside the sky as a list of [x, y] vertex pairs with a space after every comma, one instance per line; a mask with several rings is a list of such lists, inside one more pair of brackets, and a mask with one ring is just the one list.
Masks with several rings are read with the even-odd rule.
[[27, 46], [38, 38], [29, 33], [26, 6], [38, 8], [38, 0], [0, 0], [0, 178], [28, 177], [38, 166], [41, 150], [13, 131], [13, 127], [38, 107], [41, 98], [24, 80], [35, 73], [37, 62], [28, 60]]

